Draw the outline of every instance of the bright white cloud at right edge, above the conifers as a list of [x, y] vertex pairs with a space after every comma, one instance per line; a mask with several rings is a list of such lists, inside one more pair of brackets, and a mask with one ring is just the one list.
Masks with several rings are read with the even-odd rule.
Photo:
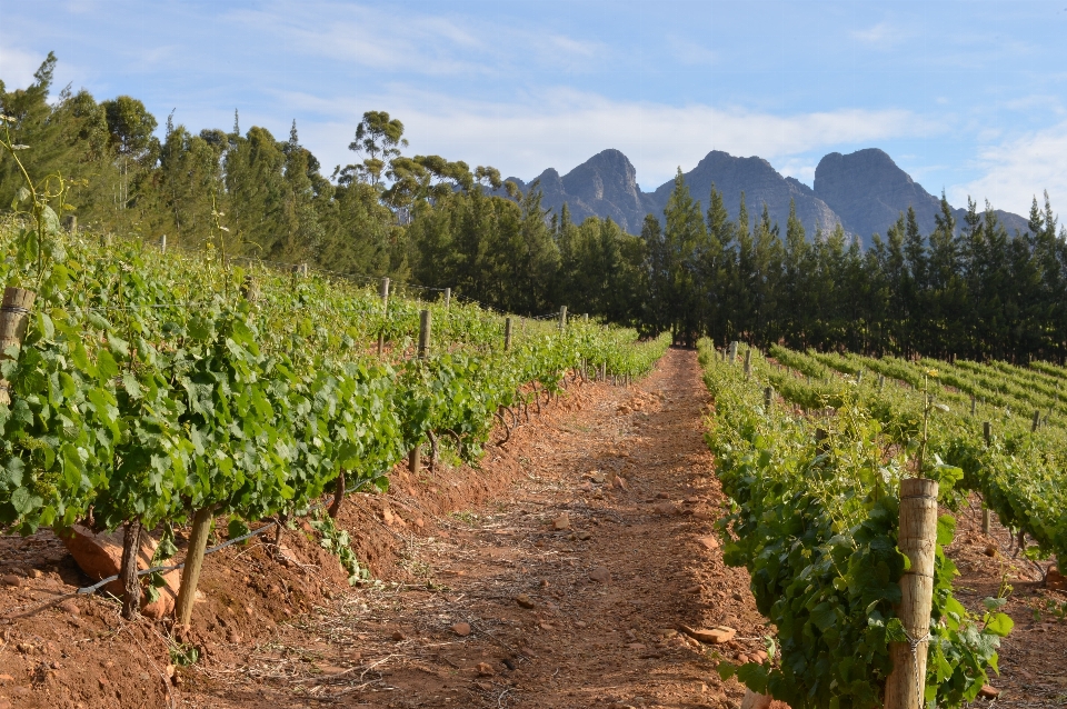
[[1053, 207], [1063, 209], [1067, 200], [1067, 121], [987, 146], [978, 152], [978, 164], [981, 177], [948, 190], [954, 204], [966, 203], [969, 194], [979, 204], [988, 199], [998, 209], [1027, 214], [1031, 200], [1043, 200], [1041, 192], [1048, 190]]

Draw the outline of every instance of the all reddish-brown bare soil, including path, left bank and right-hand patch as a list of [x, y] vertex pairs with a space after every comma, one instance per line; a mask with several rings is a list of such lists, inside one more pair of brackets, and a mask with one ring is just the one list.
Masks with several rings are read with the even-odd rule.
[[[714, 668], [756, 656], [770, 629], [715, 541], [707, 405], [685, 350], [629, 388], [572, 386], [477, 469], [398, 467], [389, 493], [349, 497], [338, 523], [377, 581], [350, 588], [301, 522], [280, 548], [271, 531], [208, 557], [195, 629], [177, 637], [122, 621], [113, 599], [70, 598], [89, 579], [50, 532], [0, 538], [0, 577], [17, 582], [0, 583], [0, 709], [736, 708], [744, 688]], [[1034, 607], [1067, 593], [974, 517], [950, 549], [960, 597], [979, 606], [1003, 573], [1015, 589], [998, 702], [1064, 706], [1067, 622]], [[701, 645], [681, 626], [737, 633]], [[176, 668], [190, 648], [199, 660]]]

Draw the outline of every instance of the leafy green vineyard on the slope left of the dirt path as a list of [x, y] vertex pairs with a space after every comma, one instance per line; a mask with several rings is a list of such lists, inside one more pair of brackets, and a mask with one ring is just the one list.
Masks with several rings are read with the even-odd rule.
[[[174, 253], [67, 236], [50, 209], [39, 216], [0, 234], [0, 526], [121, 527], [130, 576], [141, 530], [163, 530], [158, 567], [173, 527], [192, 523], [186, 623], [213, 519], [239, 537], [323, 496], [336, 516], [347, 492], [383, 491], [393, 466], [419, 465], [423, 446], [431, 467], [476, 461], [575, 381], [642, 376], [668, 344], [566, 311], [519, 319], [443, 293], [390, 298], [388, 281], [235, 262], [212, 243]], [[150, 596], [159, 585], [157, 573]]]

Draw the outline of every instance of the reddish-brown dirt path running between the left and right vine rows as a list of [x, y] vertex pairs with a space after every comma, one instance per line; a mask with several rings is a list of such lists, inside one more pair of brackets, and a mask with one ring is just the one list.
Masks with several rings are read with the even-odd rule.
[[[517, 458], [521, 482], [412, 537], [401, 565], [418, 583], [343, 593], [307, 626], [279, 626], [239, 666], [203, 669], [182, 706], [737, 706], [744, 690], [715, 661], [758, 651], [765, 629], [744, 570], [709, 548], [720, 493], [696, 354], [604, 389], [490, 453], [487, 467]], [[700, 646], [679, 623], [738, 639]]]

